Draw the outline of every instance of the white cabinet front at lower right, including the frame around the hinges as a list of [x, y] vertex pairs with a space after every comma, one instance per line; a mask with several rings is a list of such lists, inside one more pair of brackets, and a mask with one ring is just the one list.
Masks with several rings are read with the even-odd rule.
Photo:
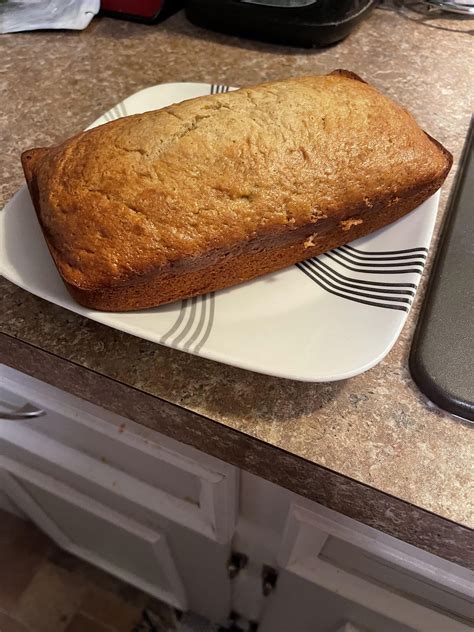
[[[234, 603], [259, 632], [473, 629], [468, 569], [251, 474], [241, 473], [240, 489], [234, 548], [248, 563]], [[265, 567], [277, 574], [268, 597]]]

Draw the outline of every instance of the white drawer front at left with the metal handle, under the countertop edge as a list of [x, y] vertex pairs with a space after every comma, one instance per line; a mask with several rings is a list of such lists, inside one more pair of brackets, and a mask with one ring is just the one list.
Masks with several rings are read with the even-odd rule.
[[[51, 461], [85, 478], [82, 470], [93, 467], [88, 460], [93, 459], [110, 466], [111, 486], [113, 472], [136, 482], [116, 485], [115, 493], [135, 497], [139, 489], [166, 518], [218, 542], [230, 540], [237, 505], [235, 468], [34, 378], [4, 366], [0, 370], [4, 410], [28, 402], [45, 413], [14, 423], [0, 421], [0, 440], [10, 446], [4, 450], [12, 458], [26, 465], [34, 462], [43, 471], [46, 463], [39, 460]], [[77, 458], [60, 462], [60, 446], [84, 455], [82, 466]]]

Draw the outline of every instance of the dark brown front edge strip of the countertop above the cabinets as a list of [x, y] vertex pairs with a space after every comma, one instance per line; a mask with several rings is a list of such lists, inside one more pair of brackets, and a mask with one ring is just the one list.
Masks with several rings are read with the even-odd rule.
[[1, 332], [0, 363], [408, 544], [474, 568], [469, 563], [474, 555], [468, 554], [472, 531], [466, 526]]

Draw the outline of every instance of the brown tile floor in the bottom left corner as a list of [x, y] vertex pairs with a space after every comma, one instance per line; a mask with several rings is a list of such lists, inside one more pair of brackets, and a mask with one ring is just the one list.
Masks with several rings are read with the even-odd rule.
[[[59, 549], [0, 510], [0, 632], [218, 632]], [[221, 628], [222, 630], [222, 628]]]

